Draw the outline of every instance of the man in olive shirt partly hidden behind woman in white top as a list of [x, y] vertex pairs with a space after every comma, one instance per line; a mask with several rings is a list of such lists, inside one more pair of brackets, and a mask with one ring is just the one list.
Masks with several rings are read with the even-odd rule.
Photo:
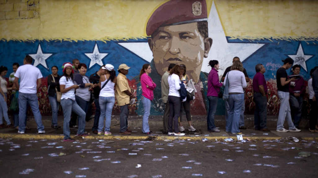
[[166, 71], [161, 78], [161, 98], [162, 101], [165, 103], [165, 109], [164, 109], [164, 115], [163, 115], [163, 131], [168, 131], [168, 120], [169, 120], [169, 102], [168, 102], [168, 95], [169, 95], [169, 83], [168, 83], [168, 77], [170, 74], [170, 70], [175, 66], [176, 64], [170, 64], [168, 67], [168, 71]]

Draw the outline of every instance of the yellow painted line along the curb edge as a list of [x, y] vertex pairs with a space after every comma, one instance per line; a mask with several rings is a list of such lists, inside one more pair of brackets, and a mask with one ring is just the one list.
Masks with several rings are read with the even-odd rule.
[[[71, 135], [72, 138], [81, 138], [80, 136], [75, 136], [75, 135]], [[120, 139], [120, 140], [144, 140], [146, 139], [148, 136], [131, 136], [131, 135], [120, 135], [120, 136], [104, 136], [104, 135], [89, 135], [86, 136], [85, 138], [87, 139], [107, 139], [107, 140], [111, 140], [111, 139]], [[202, 140], [204, 138], [208, 139], [208, 140], [215, 140], [217, 139], [218, 141], [222, 141], [226, 138], [232, 138], [233, 140], [237, 140], [236, 136], [195, 136], [195, 137], [190, 137], [190, 136], [153, 136], [155, 137], [157, 140], [175, 140], [175, 139], [191, 139], [191, 140]], [[64, 136], [63, 135], [48, 135], [48, 134], [0, 134], [0, 138], [12, 138], [12, 139], [63, 139]], [[251, 140], [276, 140], [276, 139], [280, 139], [283, 137], [265, 137], [265, 136], [251, 136], [251, 137], [246, 137], [243, 136], [244, 139], [249, 138]], [[304, 140], [318, 140], [318, 137], [303, 137], [301, 139]]]

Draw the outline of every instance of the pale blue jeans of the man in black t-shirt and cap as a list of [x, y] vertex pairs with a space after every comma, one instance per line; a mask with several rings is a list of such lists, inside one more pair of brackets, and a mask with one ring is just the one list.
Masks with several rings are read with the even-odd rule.
[[285, 118], [287, 119], [289, 129], [295, 129], [294, 123], [292, 121], [292, 116], [290, 114], [289, 106], [289, 92], [277, 91], [280, 99], [280, 109], [277, 119], [277, 130], [284, 128]]

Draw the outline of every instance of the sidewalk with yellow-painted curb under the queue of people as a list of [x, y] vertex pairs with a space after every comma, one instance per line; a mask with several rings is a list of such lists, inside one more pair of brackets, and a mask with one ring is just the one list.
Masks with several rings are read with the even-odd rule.
[[[163, 134], [158, 128], [151, 128], [150, 130], [154, 132], [153, 135], [145, 135], [142, 134], [141, 128], [129, 128], [132, 130], [131, 135], [120, 135], [119, 127], [112, 127], [110, 132], [111, 136], [104, 135], [96, 135], [92, 133], [92, 128], [86, 128], [85, 130], [90, 133], [89, 136], [85, 137], [85, 139], [102, 139], [102, 140], [110, 140], [110, 139], [129, 139], [129, 140], [143, 140], [147, 137], [155, 137], [157, 140], [175, 140], [175, 139], [191, 139], [191, 140], [202, 140], [204, 138], [215, 141], [222, 141], [225, 138], [232, 138], [233, 140], [237, 140], [237, 136], [228, 132], [225, 132], [225, 128], [220, 128], [219, 133], [210, 133], [206, 128], [196, 128], [197, 130], [193, 133], [186, 134], [185, 136], [168, 136]], [[0, 129], [0, 138], [13, 138], [13, 139], [63, 139], [63, 128], [55, 130], [52, 128], [45, 128], [45, 134], [37, 134], [38, 131], [36, 127], [31, 127], [30, 130], [25, 130], [25, 134], [18, 134], [17, 130], [9, 129], [9, 128], [1, 128]], [[81, 139], [81, 137], [76, 136], [77, 129], [71, 129], [71, 137], [75, 139]], [[188, 131], [187, 131], [188, 132]], [[308, 129], [302, 129], [301, 132], [276, 132], [275, 129], [272, 129], [271, 132], [262, 132], [254, 129], [246, 129], [241, 130], [243, 133], [243, 138], [249, 138], [251, 140], [276, 140], [284, 137], [296, 137], [299, 140], [318, 140], [318, 133], [311, 133]], [[188, 132], [189, 133], [189, 132]], [[267, 134], [267, 135], [266, 135]]]

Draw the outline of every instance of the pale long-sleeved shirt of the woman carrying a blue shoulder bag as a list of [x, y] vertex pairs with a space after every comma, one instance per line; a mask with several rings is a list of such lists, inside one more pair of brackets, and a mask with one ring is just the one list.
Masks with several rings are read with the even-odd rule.
[[224, 85], [229, 78], [229, 93], [244, 93], [243, 88], [246, 88], [246, 80], [244, 73], [239, 70], [231, 70], [227, 73], [224, 79]]

